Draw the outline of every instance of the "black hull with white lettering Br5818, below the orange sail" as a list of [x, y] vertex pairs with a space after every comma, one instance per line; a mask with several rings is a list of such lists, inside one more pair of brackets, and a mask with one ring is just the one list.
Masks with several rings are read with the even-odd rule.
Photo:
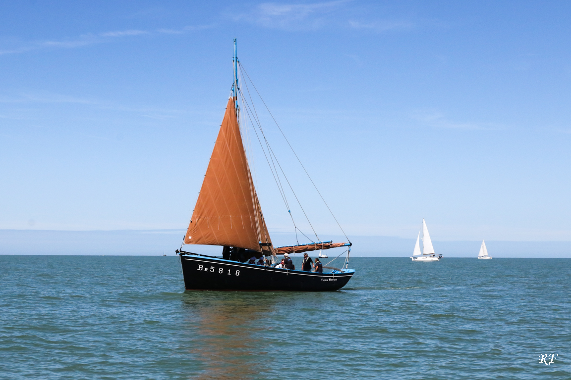
[[180, 262], [187, 290], [336, 291], [355, 273], [291, 271], [195, 255], [181, 255]]

